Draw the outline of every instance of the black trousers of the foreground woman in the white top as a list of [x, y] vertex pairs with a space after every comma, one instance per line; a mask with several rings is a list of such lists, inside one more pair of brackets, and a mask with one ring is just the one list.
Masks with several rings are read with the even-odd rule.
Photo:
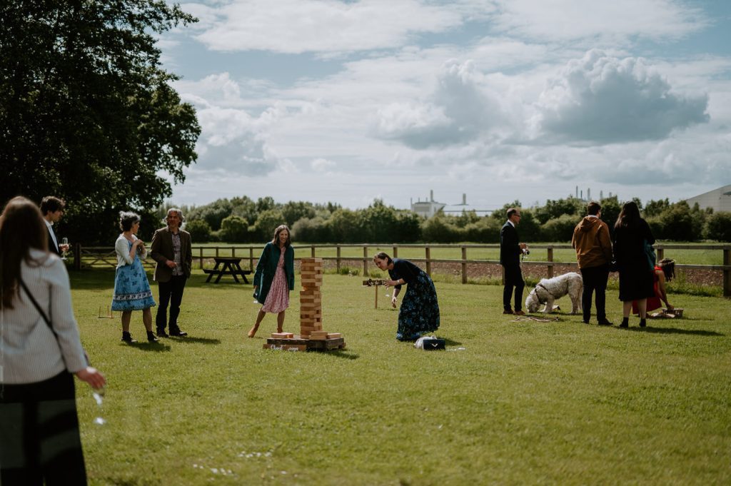
[[0, 484], [86, 485], [73, 376], [1, 386]]

